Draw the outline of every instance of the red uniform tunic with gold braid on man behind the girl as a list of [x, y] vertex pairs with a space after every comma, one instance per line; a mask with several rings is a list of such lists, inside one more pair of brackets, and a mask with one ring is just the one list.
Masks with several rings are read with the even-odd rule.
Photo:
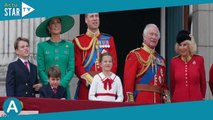
[[[84, 67], [84, 63], [89, 54], [92, 52], [93, 44], [95, 44], [95, 49], [97, 47], [101, 47], [103, 50], [99, 51], [99, 55], [101, 52], [109, 52], [113, 56], [113, 67], [112, 72], [116, 73], [117, 71], [117, 54], [114, 44], [114, 38], [107, 34], [96, 34], [96, 38], [98, 39], [97, 43], [94, 43], [93, 36], [90, 32], [86, 34], [78, 36], [73, 40], [74, 42], [74, 50], [75, 50], [75, 74], [80, 79], [79, 91], [78, 91], [78, 99], [80, 100], [88, 100], [88, 92], [89, 88], [86, 85], [86, 80], [82, 79], [81, 76], [85, 73], [91, 72], [101, 72], [101, 68], [98, 65], [93, 64], [89, 71], [87, 71]], [[108, 42], [104, 39], [100, 39], [100, 36], [108, 36]], [[95, 54], [95, 53], [94, 53]], [[92, 75], [93, 76], [93, 75]]]

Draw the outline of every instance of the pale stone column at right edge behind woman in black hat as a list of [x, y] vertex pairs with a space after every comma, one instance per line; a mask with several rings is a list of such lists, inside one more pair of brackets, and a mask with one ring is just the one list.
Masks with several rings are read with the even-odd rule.
[[209, 89], [209, 69], [213, 63], [213, 4], [193, 5], [192, 33], [198, 45], [198, 54], [204, 57], [206, 71], [206, 99], [212, 99]]

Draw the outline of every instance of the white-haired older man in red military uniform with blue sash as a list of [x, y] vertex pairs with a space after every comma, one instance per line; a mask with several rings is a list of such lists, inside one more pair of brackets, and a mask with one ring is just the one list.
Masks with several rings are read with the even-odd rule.
[[168, 95], [165, 60], [155, 51], [159, 39], [158, 27], [148, 24], [143, 31], [143, 46], [127, 55], [123, 81], [126, 101], [162, 103], [162, 94], [166, 93], [164, 99]]

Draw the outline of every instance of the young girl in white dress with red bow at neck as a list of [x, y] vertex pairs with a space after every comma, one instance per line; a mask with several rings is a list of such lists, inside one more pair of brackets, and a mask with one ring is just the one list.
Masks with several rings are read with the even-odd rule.
[[108, 52], [100, 57], [102, 72], [95, 75], [89, 90], [89, 100], [94, 101], [123, 101], [123, 88], [120, 78], [111, 72], [112, 55]]

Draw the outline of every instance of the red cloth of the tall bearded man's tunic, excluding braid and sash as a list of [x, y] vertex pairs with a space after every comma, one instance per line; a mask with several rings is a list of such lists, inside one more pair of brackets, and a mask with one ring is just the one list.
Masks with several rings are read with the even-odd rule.
[[[109, 42], [105, 43], [105, 44], [109, 44], [110, 47], [109, 48], [106, 48], [106, 47], [103, 48], [103, 51], [107, 51], [107, 52], [112, 54], [112, 56], [113, 56], [112, 72], [116, 73], [116, 71], [117, 71], [117, 54], [116, 54], [116, 49], [115, 49], [115, 44], [114, 44], [114, 38], [110, 35], [107, 35], [107, 34], [99, 34], [97, 36], [97, 38], [99, 39], [101, 35], [105, 35], [105, 36], [109, 37]], [[92, 37], [89, 34], [80, 35], [80, 36], [77, 37], [77, 39], [78, 39], [78, 42], [80, 43], [82, 48], [88, 47], [90, 45], [90, 43], [92, 42]], [[85, 68], [83, 67], [83, 64], [84, 64], [83, 62], [88, 57], [88, 55], [91, 53], [92, 46], [89, 47], [88, 50], [82, 50], [79, 47], [79, 45], [77, 45], [77, 43], [76, 43], [77, 39], [74, 39], [73, 42], [74, 42], [74, 50], [75, 50], [75, 74], [80, 79], [78, 99], [88, 100], [89, 88], [86, 86], [86, 81], [84, 79], [81, 79], [81, 76], [84, 73], [87, 73], [89, 71], [101, 72], [101, 68], [96, 67], [96, 69], [95, 69], [95, 64], [94, 64], [94, 65], [92, 65], [92, 67], [89, 71], [85, 70]], [[100, 40], [99, 40], [99, 42], [100, 42]]]

